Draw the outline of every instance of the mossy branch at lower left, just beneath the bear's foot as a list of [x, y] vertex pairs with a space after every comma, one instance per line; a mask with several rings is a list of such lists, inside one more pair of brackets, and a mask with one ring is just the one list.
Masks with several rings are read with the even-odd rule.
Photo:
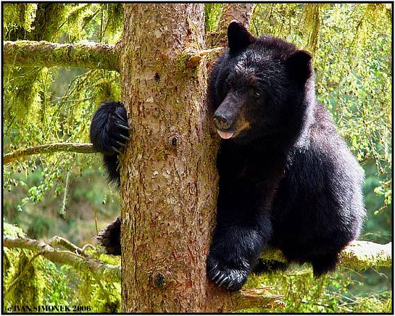
[[105, 281], [121, 281], [120, 265], [109, 265], [89, 256], [80, 256], [79, 254], [70, 252], [69, 250], [65, 251], [55, 249], [49, 245], [49, 243], [44, 242], [44, 240], [35, 240], [26, 237], [11, 238], [9, 236], [3, 236], [3, 247], [29, 249], [33, 252], [40, 252], [42, 256], [53, 263], [71, 265], [76, 269], [85, 267], [87, 270], [100, 275], [100, 277], [102, 277]]

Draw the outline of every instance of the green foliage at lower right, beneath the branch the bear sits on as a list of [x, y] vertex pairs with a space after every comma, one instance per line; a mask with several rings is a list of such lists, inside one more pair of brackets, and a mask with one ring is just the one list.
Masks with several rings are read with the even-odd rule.
[[286, 308], [251, 308], [243, 312], [254, 313], [388, 313], [391, 310], [389, 292], [378, 290], [353, 295], [350, 288], [356, 286], [356, 274], [347, 270], [315, 279], [307, 267], [292, 267], [279, 274], [252, 277], [246, 288], [270, 286], [267, 293], [283, 295]]

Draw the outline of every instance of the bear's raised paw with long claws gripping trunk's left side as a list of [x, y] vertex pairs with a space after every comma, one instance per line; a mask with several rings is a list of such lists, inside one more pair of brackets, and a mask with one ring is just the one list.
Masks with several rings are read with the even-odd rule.
[[100, 105], [91, 123], [91, 142], [105, 155], [121, 154], [129, 138], [128, 116], [119, 102]]

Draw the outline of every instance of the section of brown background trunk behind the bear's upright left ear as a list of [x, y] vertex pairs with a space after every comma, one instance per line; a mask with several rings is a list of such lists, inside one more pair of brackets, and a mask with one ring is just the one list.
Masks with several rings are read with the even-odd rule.
[[254, 3], [226, 3], [222, 9], [217, 30], [207, 34], [207, 46], [227, 46], [226, 35], [229, 22], [236, 19], [248, 28], [255, 6]]

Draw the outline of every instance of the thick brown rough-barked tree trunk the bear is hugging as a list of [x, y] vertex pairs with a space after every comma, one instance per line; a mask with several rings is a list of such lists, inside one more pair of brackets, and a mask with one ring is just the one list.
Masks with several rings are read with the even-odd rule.
[[[150, 30], [150, 32], [148, 32]], [[198, 312], [218, 193], [204, 105], [204, 5], [126, 4], [121, 73], [132, 141], [121, 157], [123, 312]], [[214, 309], [212, 311], [217, 311]]]

